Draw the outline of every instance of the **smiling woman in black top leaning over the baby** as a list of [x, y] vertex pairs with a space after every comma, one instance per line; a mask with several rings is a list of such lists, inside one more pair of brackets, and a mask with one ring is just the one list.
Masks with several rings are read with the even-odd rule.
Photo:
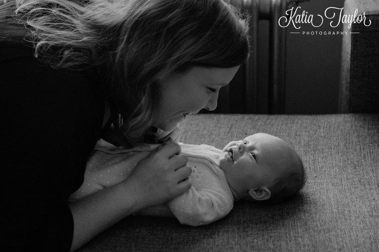
[[0, 12], [2, 251], [74, 251], [189, 189], [188, 159], [167, 143], [67, 204], [99, 138], [131, 146], [216, 108], [248, 57], [246, 19], [222, 0], [20, 0]]

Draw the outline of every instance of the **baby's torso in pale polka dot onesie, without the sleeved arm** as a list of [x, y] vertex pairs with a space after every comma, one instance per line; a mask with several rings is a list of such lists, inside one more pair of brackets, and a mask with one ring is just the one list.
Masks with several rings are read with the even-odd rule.
[[[87, 161], [82, 186], [70, 196], [69, 201], [81, 199], [125, 180], [137, 163], [156, 147], [157, 145], [146, 144], [126, 150], [100, 140]], [[218, 167], [220, 150], [206, 145], [181, 144], [181, 148], [192, 168], [192, 187], [214, 189], [218, 186], [229, 190], [224, 172]]]

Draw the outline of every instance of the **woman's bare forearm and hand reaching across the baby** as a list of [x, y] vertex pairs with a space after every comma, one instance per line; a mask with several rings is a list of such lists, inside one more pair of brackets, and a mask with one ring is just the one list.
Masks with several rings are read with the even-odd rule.
[[123, 182], [70, 203], [74, 218], [71, 251], [124, 217], [163, 204], [191, 187], [188, 158], [176, 143], [166, 143], [143, 158]]

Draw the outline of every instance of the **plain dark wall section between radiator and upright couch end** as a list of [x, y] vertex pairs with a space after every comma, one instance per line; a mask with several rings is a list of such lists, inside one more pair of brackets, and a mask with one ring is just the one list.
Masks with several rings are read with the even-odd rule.
[[[328, 7], [343, 7], [343, 0], [310, 0], [300, 3], [301, 12], [313, 14], [314, 25]], [[296, 6], [295, 6], [296, 8]], [[298, 10], [298, 12], [299, 12]], [[319, 28], [300, 24], [287, 28], [286, 114], [328, 114], [338, 112], [338, 86], [343, 35], [303, 35], [303, 32], [341, 32], [324, 17]], [[290, 32], [301, 32], [291, 34]], [[348, 34], [349, 35], [349, 34]]]

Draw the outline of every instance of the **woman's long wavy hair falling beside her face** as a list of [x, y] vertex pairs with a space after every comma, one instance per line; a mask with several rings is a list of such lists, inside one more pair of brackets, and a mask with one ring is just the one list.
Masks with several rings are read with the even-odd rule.
[[[159, 80], [249, 55], [248, 17], [223, 0], [17, 0], [35, 56], [54, 68], [97, 66], [129, 143], [157, 120]], [[104, 71], [103, 71], [104, 70]]]

